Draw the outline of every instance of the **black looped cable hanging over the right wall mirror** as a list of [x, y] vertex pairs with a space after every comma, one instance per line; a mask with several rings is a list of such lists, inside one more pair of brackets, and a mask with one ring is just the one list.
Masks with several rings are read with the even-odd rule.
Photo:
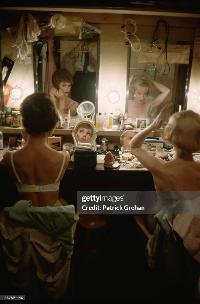
[[[169, 32], [170, 32], [170, 26], [169, 26], [169, 23], [166, 22], [165, 20], [163, 19], [160, 19], [158, 20], [157, 22], [157, 25], [156, 25], [156, 28], [155, 28], [155, 32], [154, 32], [154, 35], [153, 35], [153, 39], [152, 39], [152, 45], [151, 45], [151, 48], [152, 46], [156, 47], [158, 51], [161, 50], [161, 47], [157, 47], [157, 45], [155, 45], [154, 43], [158, 40], [158, 36], [159, 36], [159, 23], [160, 22], [163, 22], [165, 24], [165, 29], [166, 29], [166, 39], [165, 39], [165, 47], [164, 47], [164, 50], [162, 51], [162, 53], [156, 58], [156, 60], [154, 61], [153, 63], [153, 67], [155, 69], [156, 72], [158, 72], [159, 74], [162, 74], [162, 75], [168, 75], [170, 73], [170, 65], [167, 61], [167, 43], [168, 43], [168, 37], [169, 37]], [[157, 32], [157, 36], [155, 38], [155, 34]], [[157, 69], [156, 69], [156, 61], [159, 59], [159, 57], [164, 53], [164, 51], [166, 50], [166, 63], [167, 63], [167, 67], [168, 67], [168, 71], [166, 71], [166, 63], [165, 63], [165, 67], [164, 67], [164, 71], [163, 72], [159, 72]]]

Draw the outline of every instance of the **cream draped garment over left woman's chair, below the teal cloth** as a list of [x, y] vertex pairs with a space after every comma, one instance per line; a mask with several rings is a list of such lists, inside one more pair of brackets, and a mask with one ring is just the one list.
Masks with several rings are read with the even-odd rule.
[[26, 293], [26, 300], [39, 298], [39, 286], [53, 299], [63, 297], [72, 251], [62, 253], [62, 245], [51, 233], [9, 218], [10, 210], [0, 212], [0, 236], [12, 285]]

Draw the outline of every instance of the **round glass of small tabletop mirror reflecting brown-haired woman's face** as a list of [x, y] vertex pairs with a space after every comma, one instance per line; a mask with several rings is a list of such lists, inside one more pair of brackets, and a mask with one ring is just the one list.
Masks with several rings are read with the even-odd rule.
[[88, 120], [82, 120], [74, 128], [74, 137], [77, 142], [89, 143], [96, 136], [96, 129], [93, 123]]

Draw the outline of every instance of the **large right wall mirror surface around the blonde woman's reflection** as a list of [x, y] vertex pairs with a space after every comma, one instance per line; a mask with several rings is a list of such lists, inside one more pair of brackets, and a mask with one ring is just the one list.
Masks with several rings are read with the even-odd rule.
[[[185, 110], [187, 108], [187, 96], [191, 73], [192, 47], [190, 43], [182, 41], [168, 42], [168, 62], [155, 63], [153, 60], [161, 54], [162, 49], [159, 50], [159, 46], [162, 47], [165, 43], [164, 41], [156, 41], [156, 47], [152, 47], [151, 41], [141, 40], [140, 52], [135, 51], [139, 50], [138, 41], [130, 41], [134, 50], [132, 50], [129, 44], [125, 118], [130, 117], [130, 111], [128, 109], [131, 101], [134, 100], [134, 92], [131, 90], [131, 84], [136, 78], [142, 75], [148, 75], [153, 81], [170, 88], [170, 94], [166, 99], [152, 110], [149, 123], [157, 116], [160, 109], [162, 109], [166, 103], [172, 102], [173, 107], [171, 108], [171, 112], [168, 111], [165, 113], [165, 121], [168, 120], [173, 112], [177, 112], [180, 109]], [[150, 54], [148, 54], [148, 52]], [[150, 62], [148, 62], [148, 60]], [[173, 61], [173, 63], [171, 63], [171, 61]], [[182, 62], [180, 63], [180, 61]], [[159, 90], [155, 87], [152, 88], [153, 91], [145, 102], [148, 102], [150, 99], [159, 95]]]

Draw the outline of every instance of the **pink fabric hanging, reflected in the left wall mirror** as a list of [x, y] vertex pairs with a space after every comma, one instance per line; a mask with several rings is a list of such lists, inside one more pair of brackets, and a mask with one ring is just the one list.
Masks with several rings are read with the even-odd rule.
[[48, 41], [48, 61], [47, 61], [47, 68], [46, 68], [46, 75], [45, 75], [45, 88], [44, 92], [48, 93], [53, 88], [52, 84], [52, 75], [55, 70], [57, 70], [54, 57], [53, 57], [53, 40]]

